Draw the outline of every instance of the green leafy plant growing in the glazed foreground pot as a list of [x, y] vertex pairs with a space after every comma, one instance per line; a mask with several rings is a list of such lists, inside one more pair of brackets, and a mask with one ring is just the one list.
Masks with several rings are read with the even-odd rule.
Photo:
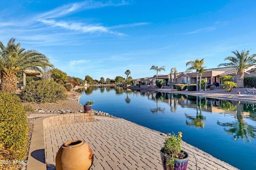
[[164, 142], [164, 147], [162, 147], [161, 152], [170, 157], [169, 161], [166, 162], [167, 166], [170, 166], [171, 168], [174, 168], [175, 159], [181, 159], [185, 158], [186, 154], [182, 152], [181, 150], [183, 149], [181, 146], [182, 142], [182, 132], [178, 132], [179, 135], [175, 135], [174, 133], [167, 133], [167, 137]]

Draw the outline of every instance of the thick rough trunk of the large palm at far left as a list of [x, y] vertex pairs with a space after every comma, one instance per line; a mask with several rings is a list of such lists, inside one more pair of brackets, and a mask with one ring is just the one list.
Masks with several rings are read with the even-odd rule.
[[0, 84], [0, 90], [15, 92], [17, 90], [17, 77], [15, 74], [4, 74]]

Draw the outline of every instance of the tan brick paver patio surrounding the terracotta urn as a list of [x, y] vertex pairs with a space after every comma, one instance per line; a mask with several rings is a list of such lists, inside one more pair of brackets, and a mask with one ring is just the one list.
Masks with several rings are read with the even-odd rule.
[[[45, 129], [47, 170], [55, 169], [59, 147], [72, 140], [85, 141], [94, 151], [92, 170], [162, 170], [160, 149], [164, 137], [124, 119], [95, 116], [98, 121]], [[237, 170], [184, 143], [190, 154], [188, 170]]]

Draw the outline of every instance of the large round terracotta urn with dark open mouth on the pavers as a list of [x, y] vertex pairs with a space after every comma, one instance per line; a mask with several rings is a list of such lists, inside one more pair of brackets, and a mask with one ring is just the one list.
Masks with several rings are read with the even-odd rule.
[[93, 162], [93, 151], [80, 140], [64, 143], [56, 155], [56, 170], [89, 170]]

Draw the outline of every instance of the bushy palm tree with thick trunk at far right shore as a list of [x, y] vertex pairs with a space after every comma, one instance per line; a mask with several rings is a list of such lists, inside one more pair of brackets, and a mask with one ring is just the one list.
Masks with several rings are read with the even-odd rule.
[[226, 57], [224, 60], [229, 60], [230, 63], [222, 63], [219, 64], [219, 66], [235, 66], [237, 68], [237, 74], [236, 74], [236, 84], [238, 85], [238, 88], [244, 88], [244, 70], [248, 66], [252, 66], [256, 63], [256, 60], [254, 57], [256, 54], [253, 54], [248, 57], [251, 50], [248, 50], [245, 52], [245, 49], [239, 53], [237, 50], [232, 51], [236, 55], [236, 57]]

